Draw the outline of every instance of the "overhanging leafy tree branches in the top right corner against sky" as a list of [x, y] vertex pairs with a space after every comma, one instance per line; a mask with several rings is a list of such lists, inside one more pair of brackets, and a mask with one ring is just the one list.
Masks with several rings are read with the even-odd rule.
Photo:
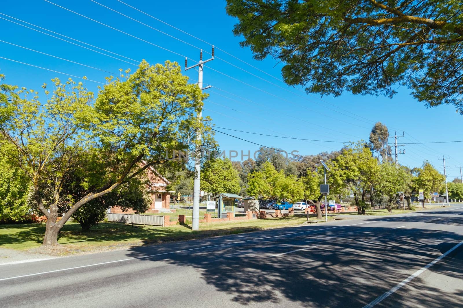
[[226, 11], [241, 46], [285, 63], [288, 85], [392, 97], [400, 84], [463, 114], [460, 1], [227, 0]]

